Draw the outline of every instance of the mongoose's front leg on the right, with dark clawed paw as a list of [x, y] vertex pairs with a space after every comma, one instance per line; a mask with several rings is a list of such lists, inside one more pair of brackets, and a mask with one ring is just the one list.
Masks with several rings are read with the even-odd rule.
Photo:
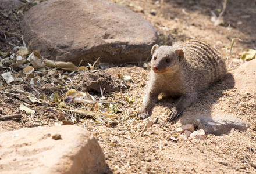
[[182, 115], [186, 107], [190, 106], [197, 99], [197, 92], [189, 93], [180, 97], [179, 102], [175, 107], [172, 108], [169, 114], [169, 121], [173, 121]]

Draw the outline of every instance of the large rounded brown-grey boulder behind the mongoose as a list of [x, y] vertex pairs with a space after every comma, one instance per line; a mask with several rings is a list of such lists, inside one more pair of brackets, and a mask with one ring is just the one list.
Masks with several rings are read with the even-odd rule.
[[21, 26], [33, 50], [75, 64], [144, 61], [158, 41], [147, 20], [104, 0], [48, 0], [31, 8]]

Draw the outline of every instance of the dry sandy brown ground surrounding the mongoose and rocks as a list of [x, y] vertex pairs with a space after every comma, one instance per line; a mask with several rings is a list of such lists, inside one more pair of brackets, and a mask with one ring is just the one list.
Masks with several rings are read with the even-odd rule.
[[[222, 1], [115, 1], [120, 5], [134, 10], [136, 13], [150, 21], [158, 30], [161, 39], [160, 45], [170, 45], [175, 41], [185, 41], [190, 38], [204, 39], [214, 45], [223, 56], [230, 53], [230, 37], [240, 38], [233, 47], [232, 59], [227, 61], [229, 72], [233, 73], [243, 63], [239, 53], [247, 48], [255, 47], [256, 13], [255, 1], [229, 1], [223, 14], [225, 23], [214, 26], [211, 22], [211, 10], [219, 14], [222, 9]], [[22, 46], [19, 21], [23, 13], [18, 8], [6, 10], [0, 8], [1, 17], [1, 60], [10, 57], [13, 48]], [[19, 13], [18, 13], [19, 12]], [[16, 18], [16, 17], [17, 18]], [[228, 25], [230, 30], [228, 31]], [[10, 35], [6, 34], [10, 33]], [[42, 55], [43, 56], [43, 55]], [[150, 56], [149, 56], [150, 59]], [[5, 62], [5, 67], [12, 63]], [[10, 70], [0, 68], [0, 74]], [[20, 72], [22, 70], [14, 69]], [[80, 92], [88, 92], [95, 100], [101, 100], [101, 94], [88, 91], [84, 74], [69, 74], [65, 71], [49, 71], [44, 74], [45, 84], [41, 86], [28, 85], [23, 82], [13, 82], [8, 85], [0, 76], [0, 114], [22, 114], [22, 118], [0, 121], [0, 131], [12, 131], [33, 126], [55, 126], [60, 124], [75, 124], [88, 129], [98, 139], [104, 151], [106, 162], [113, 173], [255, 173], [256, 161], [256, 107], [255, 93], [239, 92], [234, 89], [232, 75], [210, 86], [200, 96], [197, 102], [188, 107], [179, 121], [170, 123], [167, 121], [170, 109], [175, 103], [169, 99], [162, 99], [152, 111], [149, 119], [157, 120], [150, 128], [143, 130], [141, 121], [136, 117], [140, 111], [143, 100], [145, 84], [147, 83], [148, 70], [134, 65], [125, 67], [112, 67], [98, 73], [101, 81], [97, 82], [101, 88], [107, 89], [108, 82], [111, 90], [122, 88], [127, 83], [130, 88], [107, 92], [105, 90], [104, 101], [116, 103], [116, 117], [96, 117], [92, 114], [74, 113], [69, 111], [70, 105], [84, 110], [95, 111], [102, 107], [102, 111], [110, 114], [114, 111], [109, 103], [81, 104], [68, 103], [70, 97], [65, 93], [70, 89]], [[106, 73], [110, 74], [106, 75]], [[102, 75], [101, 75], [102, 74]], [[116, 78], [118, 74], [131, 75], [128, 82]], [[106, 82], [105, 82], [106, 81]], [[13, 85], [23, 86], [24, 91], [32, 93], [39, 98], [45, 96], [41, 104], [31, 102], [24, 92], [13, 89]], [[87, 85], [88, 86], [88, 85]], [[118, 86], [118, 87], [117, 87]], [[36, 92], [37, 90], [37, 92]], [[61, 102], [66, 102], [69, 110], [60, 110], [58, 102], [49, 103], [50, 96], [58, 92]], [[110, 90], [109, 90], [110, 91]], [[3, 93], [5, 92], [5, 93]], [[39, 93], [38, 93], [39, 92]], [[65, 99], [65, 100], [63, 100]], [[36, 112], [31, 117], [20, 111], [20, 104], [28, 104], [27, 107]], [[111, 108], [111, 109], [110, 109]], [[216, 114], [232, 116], [242, 121], [251, 122], [252, 126], [247, 131], [232, 129], [229, 134], [215, 136], [208, 134], [207, 140], [191, 140], [179, 135], [175, 130], [182, 124], [193, 123], [198, 115], [214, 117]], [[99, 119], [100, 118], [100, 119]], [[111, 124], [111, 121], [113, 124]], [[196, 128], [200, 129], [200, 127]], [[177, 141], [174, 141], [175, 137]]]

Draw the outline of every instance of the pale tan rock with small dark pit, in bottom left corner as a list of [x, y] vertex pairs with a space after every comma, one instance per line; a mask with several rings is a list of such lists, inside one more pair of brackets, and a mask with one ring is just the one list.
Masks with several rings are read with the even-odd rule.
[[89, 131], [66, 125], [0, 134], [0, 173], [108, 173]]

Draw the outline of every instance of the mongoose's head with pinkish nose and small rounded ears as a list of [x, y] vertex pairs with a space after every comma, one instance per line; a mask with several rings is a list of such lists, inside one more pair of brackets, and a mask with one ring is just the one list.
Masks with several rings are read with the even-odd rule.
[[184, 59], [182, 49], [172, 46], [154, 45], [151, 49], [151, 68], [154, 73], [172, 73], [179, 68], [180, 62]]

